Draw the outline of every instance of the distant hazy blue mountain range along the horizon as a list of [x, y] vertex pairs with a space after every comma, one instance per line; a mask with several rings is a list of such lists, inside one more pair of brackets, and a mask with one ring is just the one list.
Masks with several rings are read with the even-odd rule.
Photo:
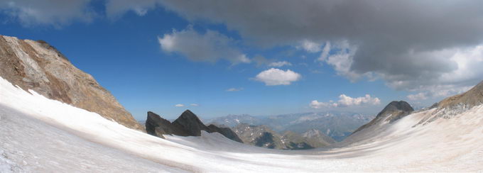
[[[226, 125], [236, 131], [237, 125], [265, 125], [276, 133], [303, 134], [309, 130], [318, 130], [320, 133], [333, 138], [335, 141], [344, 140], [354, 130], [374, 119], [373, 115], [344, 112], [320, 113], [291, 113], [278, 116], [249, 116], [229, 115], [205, 120], [206, 124]], [[240, 135], [240, 134], [239, 134]]]

